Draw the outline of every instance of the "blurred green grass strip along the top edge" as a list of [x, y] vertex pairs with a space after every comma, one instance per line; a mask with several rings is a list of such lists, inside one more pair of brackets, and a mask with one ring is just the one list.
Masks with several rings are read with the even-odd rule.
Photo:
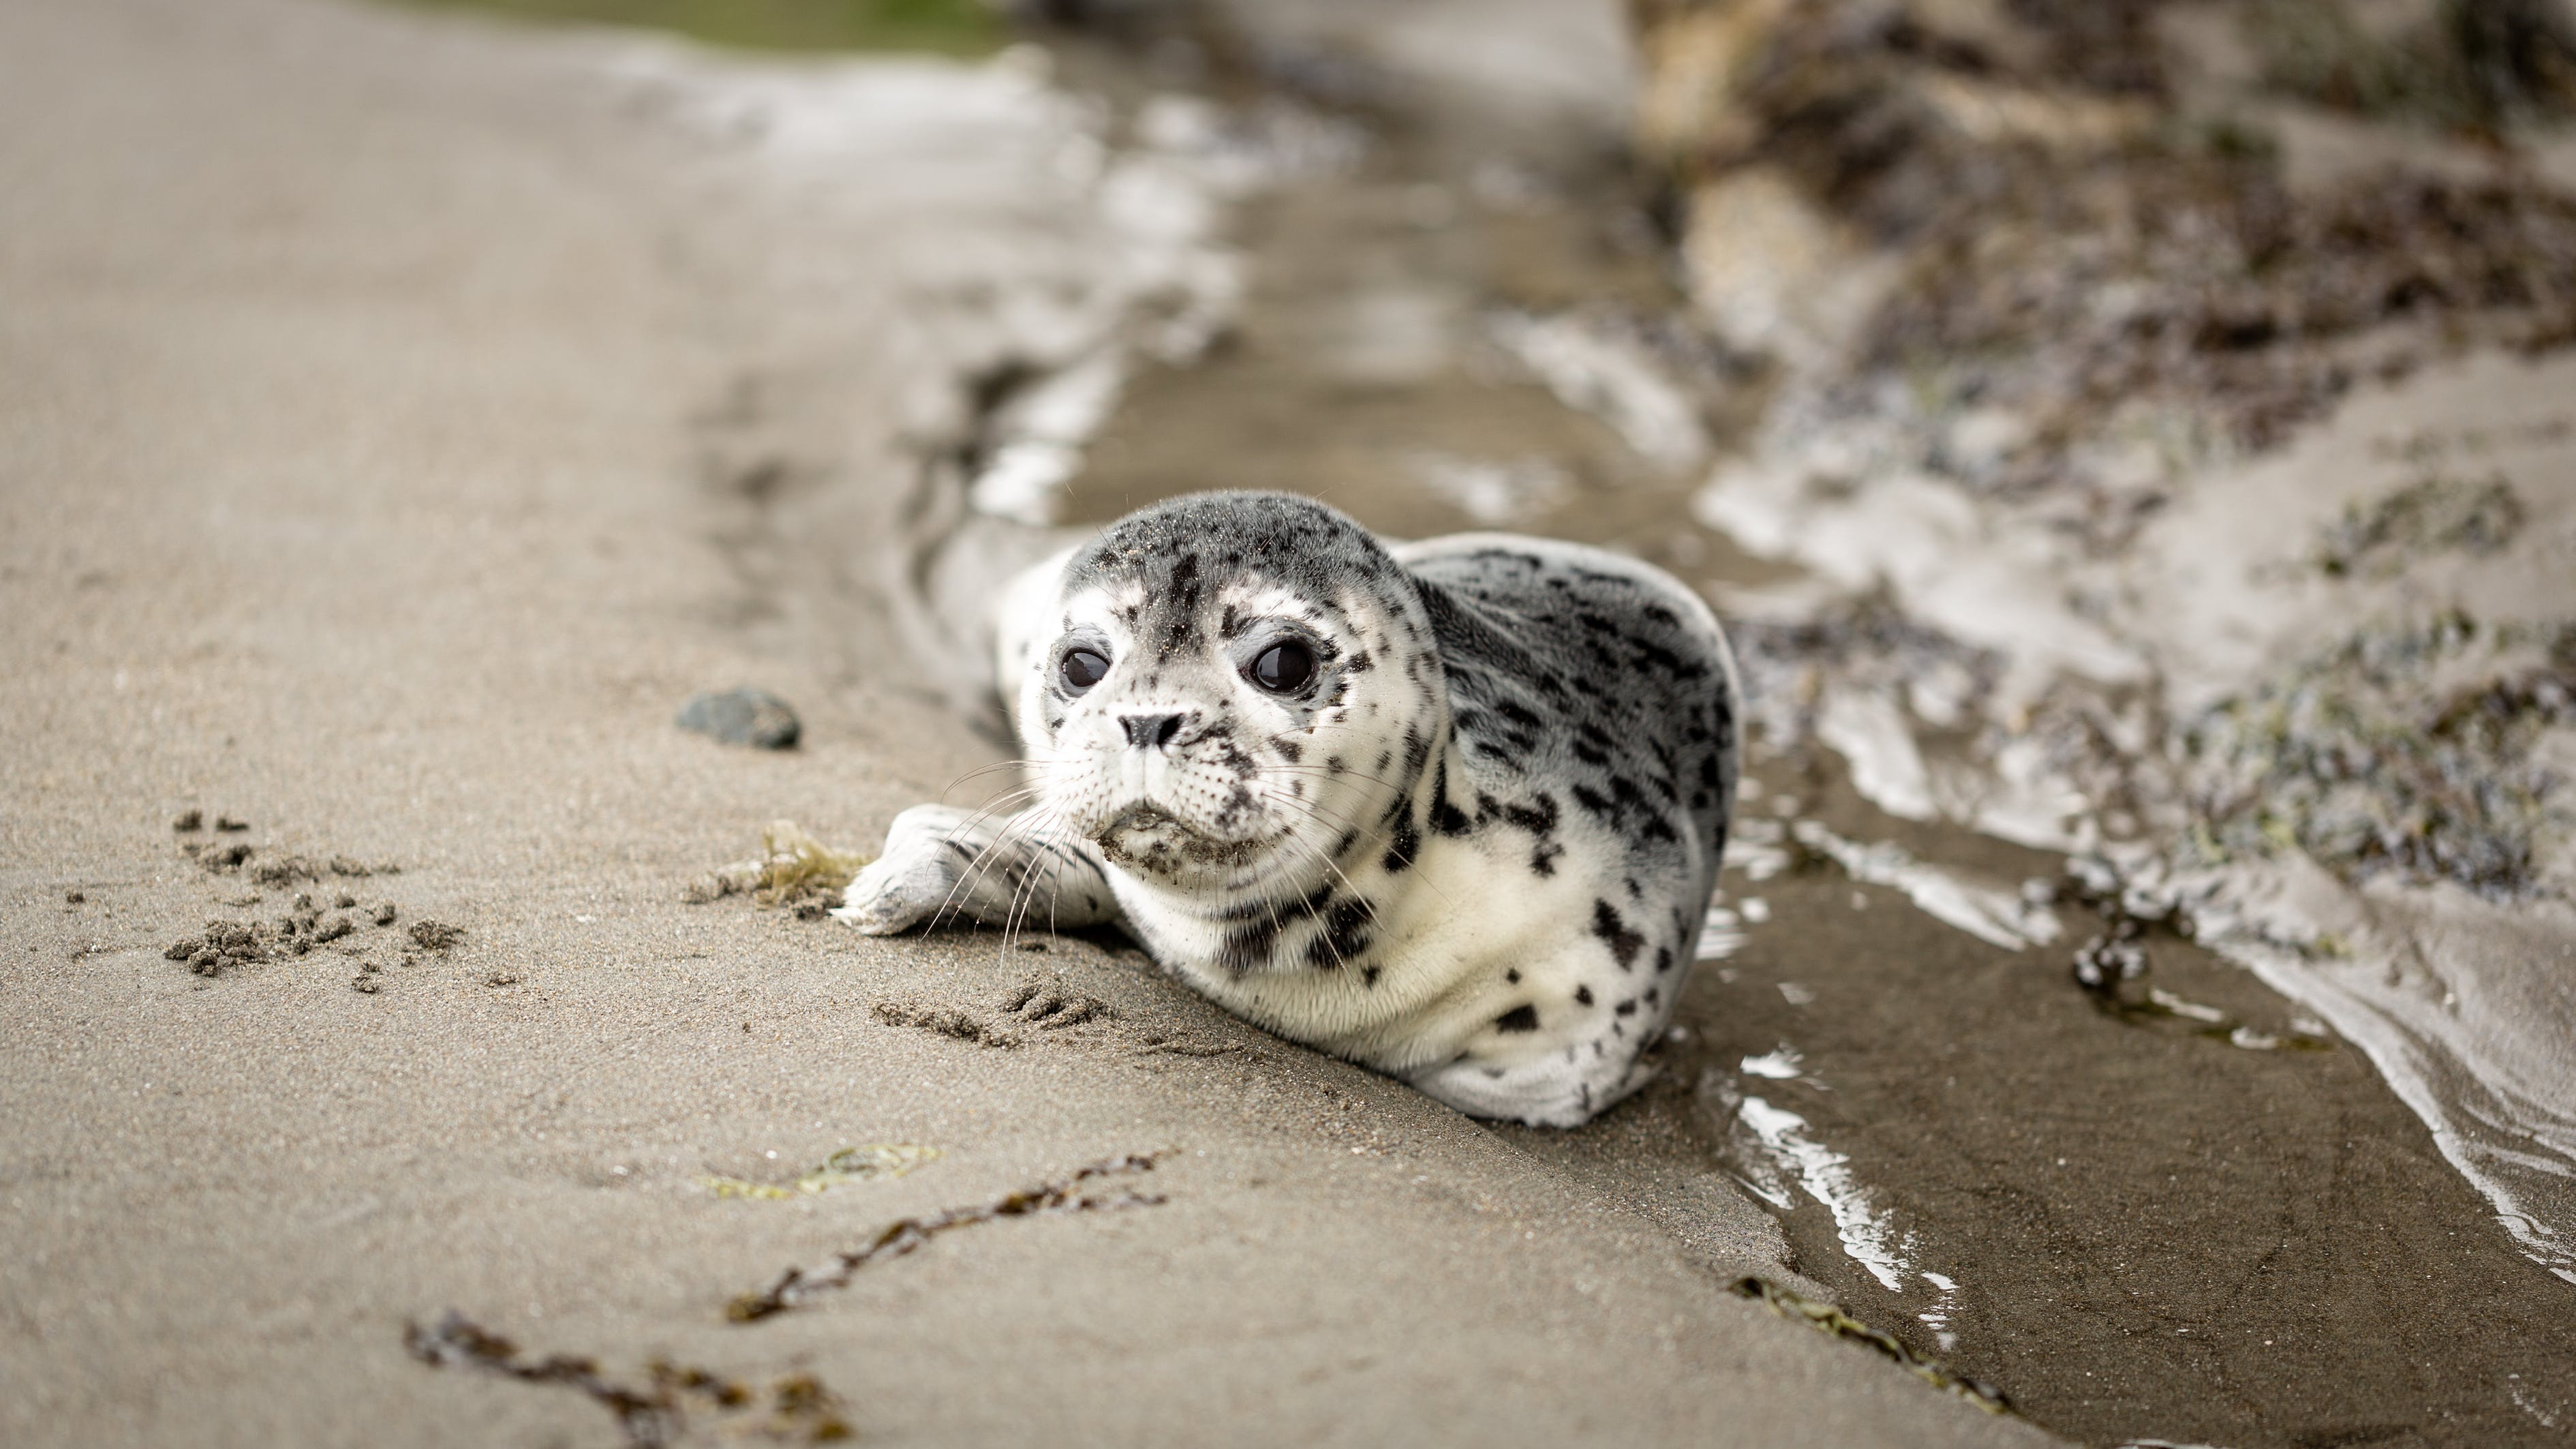
[[523, 21], [675, 31], [762, 52], [992, 54], [1007, 39], [984, 0], [399, 0]]

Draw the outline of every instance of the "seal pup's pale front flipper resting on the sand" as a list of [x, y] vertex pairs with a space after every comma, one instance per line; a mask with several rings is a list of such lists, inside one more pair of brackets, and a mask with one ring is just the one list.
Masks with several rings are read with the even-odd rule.
[[1118, 900], [1100, 864], [1033, 815], [914, 804], [832, 915], [868, 936], [948, 920], [1059, 931], [1115, 920]]

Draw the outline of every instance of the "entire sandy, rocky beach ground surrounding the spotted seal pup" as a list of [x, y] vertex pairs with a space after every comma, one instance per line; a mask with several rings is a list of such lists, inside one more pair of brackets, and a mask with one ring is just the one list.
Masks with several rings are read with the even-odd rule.
[[[0, 8], [0, 1441], [2563, 1441], [2576, 64], [2342, 10]], [[1726, 621], [1631, 1101], [708, 884], [1200, 487]]]

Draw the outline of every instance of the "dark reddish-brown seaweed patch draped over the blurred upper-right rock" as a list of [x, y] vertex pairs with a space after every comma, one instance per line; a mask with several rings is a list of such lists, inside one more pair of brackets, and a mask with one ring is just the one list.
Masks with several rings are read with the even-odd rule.
[[2367, 376], [2576, 338], [2576, 201], [2535, 183], [2388, 173], [2306, 199], [2264, 155], [1986, 160], [1994, 183], [1924, 219], [1862, 353], [2020, 415], [2030, 441], [1973, 482], [2050, 482], [2120, 407], [2182, 407], [2251, 451]]

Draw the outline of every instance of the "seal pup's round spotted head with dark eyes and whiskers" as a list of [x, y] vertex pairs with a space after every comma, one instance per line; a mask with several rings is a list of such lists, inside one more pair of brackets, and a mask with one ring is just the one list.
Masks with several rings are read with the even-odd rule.
[[1412, 578], [1306, 498], [1200, 492], [1064, 567], [1020, 681], [1038, 810], [1221, 913], [1293, 900], [1409, 825], [1448, 737]]

